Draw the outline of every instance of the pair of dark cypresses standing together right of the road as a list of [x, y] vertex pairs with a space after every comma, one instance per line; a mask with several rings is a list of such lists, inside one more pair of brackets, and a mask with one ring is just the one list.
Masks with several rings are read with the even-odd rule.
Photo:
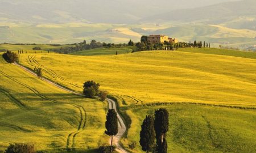
[[169, 130], [169, 113], [160, 108], [155, 117], [147, 115], [141, 126], [139, 143], [143, 151], [167, 153], [167, 131]]

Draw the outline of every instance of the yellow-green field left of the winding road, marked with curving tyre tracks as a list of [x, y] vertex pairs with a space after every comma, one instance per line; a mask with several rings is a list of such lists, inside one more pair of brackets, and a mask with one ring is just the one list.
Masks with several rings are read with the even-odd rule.
[[106, 103], [59, 90], [2, 55], [0, 66], [0, 152], [20, 142], [46, 152], [95, 152], [108, 143]]

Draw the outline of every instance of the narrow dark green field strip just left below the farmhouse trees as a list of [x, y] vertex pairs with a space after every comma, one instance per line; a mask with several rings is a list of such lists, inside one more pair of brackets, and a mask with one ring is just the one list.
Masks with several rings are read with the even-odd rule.
[[98, 55], [115, 55], [117, 54], [127, 54], [131, 53], [133, 48], [131, 47], [121, 47], [121, 48], [96, 48], [90, 50], [82, 50], [79, 52], [71, 53], [72, 55], [78, 56], [98, 56]]

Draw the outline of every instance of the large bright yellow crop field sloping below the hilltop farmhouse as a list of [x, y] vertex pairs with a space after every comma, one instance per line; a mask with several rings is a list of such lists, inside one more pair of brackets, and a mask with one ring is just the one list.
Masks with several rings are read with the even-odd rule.
[[31, 69], [42, 67], [44, 76], [79, 92], [85, 80], [95, 80], [103, 90], [122, 97], [125, 104], [189, 102], [255, 107], [256, 60], [201, 50], [86, 57], [20, 54], [19, 62]]

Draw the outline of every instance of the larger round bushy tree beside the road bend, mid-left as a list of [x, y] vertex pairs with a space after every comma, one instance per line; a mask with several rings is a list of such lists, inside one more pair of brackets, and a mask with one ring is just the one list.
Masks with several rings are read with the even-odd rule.
[[98, 94], [98, 89], [100, 88], [100, 83], [96, 83], [93, 80], [86, 81], [84, 83], [84, 91], [83, 94], [86, 97], [92, 98], [93, 96]]

